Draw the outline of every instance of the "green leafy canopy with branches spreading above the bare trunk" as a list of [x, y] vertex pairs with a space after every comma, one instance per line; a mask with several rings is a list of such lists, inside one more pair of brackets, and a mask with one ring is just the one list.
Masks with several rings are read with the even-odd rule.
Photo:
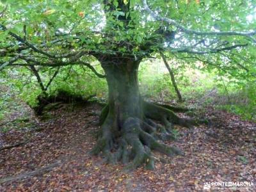
[[0, 69], [90, 67], [102, 55], [142, 60], [164, 50], [189, 65], [256, 74], [254, 0], [2, 0], [0, 13]]

